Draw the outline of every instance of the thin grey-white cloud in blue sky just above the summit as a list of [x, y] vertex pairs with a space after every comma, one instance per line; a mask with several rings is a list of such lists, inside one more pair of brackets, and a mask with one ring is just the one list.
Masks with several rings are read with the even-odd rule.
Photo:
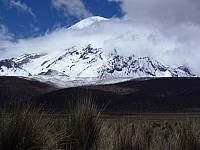
[[64, 10], [65, 15], [75, 16], [79, 19], [92, 16], [81, 0], [52, 0], [56, 9]]

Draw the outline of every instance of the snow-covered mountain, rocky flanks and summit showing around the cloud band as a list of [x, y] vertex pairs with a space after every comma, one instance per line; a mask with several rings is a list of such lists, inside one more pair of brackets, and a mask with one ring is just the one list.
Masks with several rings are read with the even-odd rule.
[[[70, 28], [83, 29], [102, 17], [90, 17]], [[189, 68], [171, 68], [151, 57], [120, 56], [117, 50], [106, 52], [87, 41], [85, 47], [74, 45], [50, 53], [23, 54], [18, 58], [0, 61], [2, 76], [66, 76], [76, 77], [192, 77]]]

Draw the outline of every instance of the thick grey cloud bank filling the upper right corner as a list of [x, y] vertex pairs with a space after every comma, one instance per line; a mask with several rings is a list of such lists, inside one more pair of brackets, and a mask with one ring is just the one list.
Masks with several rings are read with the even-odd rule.
[[[191, 28], [200, 27], [199, 0], [108, 0], [120, 1], [123, 19], [134, 24], [153, 26], [165, 36], [192, 41], [197, 34]], [[188, 29], [189, 30], [188, 30]], [[191, 36], [195, 36], [191, 37]]]

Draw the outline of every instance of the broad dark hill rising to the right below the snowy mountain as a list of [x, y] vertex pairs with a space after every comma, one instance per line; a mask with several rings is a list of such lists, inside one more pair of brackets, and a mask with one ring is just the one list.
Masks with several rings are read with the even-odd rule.
[[112, 112], [200, 111], [200, 78], [155, 78], [68, 88], [35, 100], [63, 110], [69, 101], [75, 102], [87, 95], [98, 105], [108, 105], [106, 111]]

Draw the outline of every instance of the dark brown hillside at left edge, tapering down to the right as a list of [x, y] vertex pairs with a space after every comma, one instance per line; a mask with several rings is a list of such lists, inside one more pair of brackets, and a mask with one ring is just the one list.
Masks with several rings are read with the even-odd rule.
[[35, 80], [0, 76], [0, 104], [28, 100], [34, 96], [56, 90], [55, 87]]

